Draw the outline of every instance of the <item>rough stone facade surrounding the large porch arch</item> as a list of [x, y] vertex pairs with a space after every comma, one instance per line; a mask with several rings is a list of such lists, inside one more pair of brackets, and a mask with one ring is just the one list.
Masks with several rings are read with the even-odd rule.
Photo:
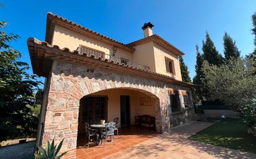
[[[155, 114], [157, 132], [164, 133], [170, 131], [170, 122], [176, 124], [175, 120], [170, 120], [172, 116], [168, 90], [191, 92], [188, 87], [160, 80], [120, 74], [61, 60], [53, 60], [47, 85], [49, 88], [48, 92], [45, 92], [45, 98], [48, 102], [45, 103], [42, 145], [53, 138], [57, 142], [64, 138], [62, 151], [76, 148], [80, 99], [85, 95], [111, 88], [127, 88], [143, 92], [152, 98], [152, 103], [157, 110]], [[186, 118], [191, 118], [191, 113], [187, 111], [182, 118], [186, 122]], [[70, 156], [72, 155], [68, 155]]]

